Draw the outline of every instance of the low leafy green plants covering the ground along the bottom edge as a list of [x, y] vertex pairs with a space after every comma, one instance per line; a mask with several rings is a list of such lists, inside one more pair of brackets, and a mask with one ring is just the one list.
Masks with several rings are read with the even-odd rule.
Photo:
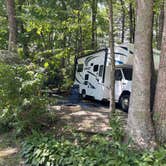
[[166, 163], [166, 148], [140, 152], [98, 135], [75, 144], [35, 133], [23, 143], [22, 156], [32, 166], [156, 166]]

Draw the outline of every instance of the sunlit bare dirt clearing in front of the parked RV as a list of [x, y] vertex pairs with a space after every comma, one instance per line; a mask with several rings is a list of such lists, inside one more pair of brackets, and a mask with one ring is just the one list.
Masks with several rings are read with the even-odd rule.
[[[70, 101], [68, 99], [59, 101], [58, 105], [51, 106], [50, 109], [56, 113], [57, 126], [67, 125], [75, 128], [77, 131], [84, 131], [90, 133], [104, 133], [110, 130], [109, 116], [110, 110], [108, 105], [102, 103], [84, 100], [78, 102], [76, 106], [80, 109], [67, 110], [67, 107], [63, 109], [61, 105], [68, 105]], [[69, 106], [70, 108], [70, 106]], [[116, 112], [124, 119], [127, 120], [127, 113], [121, 111], [118, 107]], [[126, 123], [126, 122], [125, 122]]]

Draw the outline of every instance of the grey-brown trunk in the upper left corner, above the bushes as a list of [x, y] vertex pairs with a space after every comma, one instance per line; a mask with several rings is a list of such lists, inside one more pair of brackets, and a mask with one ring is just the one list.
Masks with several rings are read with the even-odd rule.
[[15, 3], [14, 0], [7, 0], [7, 13], [9, 21], [9, 51], [16, 51], [17, 45], [17, 26], [15, 17]]

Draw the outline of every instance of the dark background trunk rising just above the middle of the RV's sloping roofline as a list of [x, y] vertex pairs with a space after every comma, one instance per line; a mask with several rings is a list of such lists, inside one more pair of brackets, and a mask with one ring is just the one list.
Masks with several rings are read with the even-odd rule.
[[92, 0], [92, 49], [97, 49], [97, 0]]

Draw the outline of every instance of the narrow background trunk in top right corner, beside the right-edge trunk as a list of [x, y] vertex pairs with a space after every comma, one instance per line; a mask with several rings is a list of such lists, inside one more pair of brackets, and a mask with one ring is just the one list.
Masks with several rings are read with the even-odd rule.
[[161, 50], [161, 42], [162, 42], [162, 33], [164, 26], [164, 1], [162, 1], [159, 15], [159, 32], [158, 32], [158, 40], [157, 40], [157, 49]]

